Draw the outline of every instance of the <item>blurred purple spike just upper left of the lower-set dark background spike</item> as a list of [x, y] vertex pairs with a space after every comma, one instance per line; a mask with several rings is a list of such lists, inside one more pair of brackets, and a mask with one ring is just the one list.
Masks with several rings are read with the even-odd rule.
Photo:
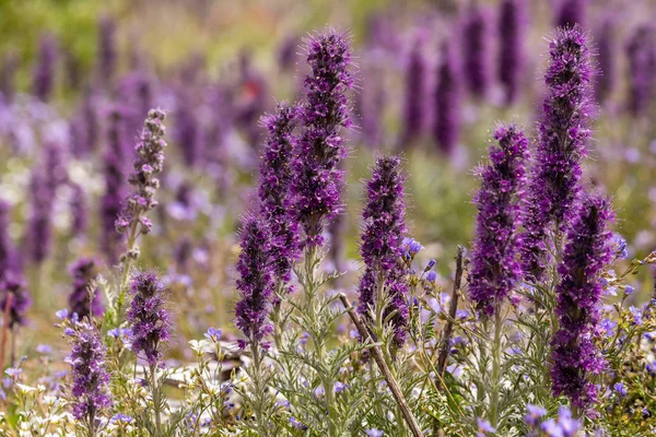
[[420, 138], [426, 129], [429, 110], [426, 107], [429, 62], [423, 51], [424, 37], [419, 35], [408, 58], [406, 71], [406, 106], [403, 109], [402, 142], [409, 143]]

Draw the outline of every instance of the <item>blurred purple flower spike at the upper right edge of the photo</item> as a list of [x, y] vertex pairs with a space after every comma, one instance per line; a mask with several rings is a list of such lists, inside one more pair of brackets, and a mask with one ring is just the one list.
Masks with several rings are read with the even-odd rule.
[[639, 27], [626, 46], [629, 58], [629, 110], [634, 117], [646, 115], [656, 96], [656, 29]]

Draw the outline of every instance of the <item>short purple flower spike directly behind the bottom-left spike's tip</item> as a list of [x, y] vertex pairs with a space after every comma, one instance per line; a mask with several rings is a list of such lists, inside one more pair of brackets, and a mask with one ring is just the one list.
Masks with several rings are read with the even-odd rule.
[[[96, 262], [91, 258], [81, 258], [70, 267], [73, 277], [73, 291], [69, 296], [71, 314], [77, 314], [79, 319], [89, 316], [102, 316], [105, 311], [99, 290], [90, 291], [93, 280], [97, 275]], [[93, 293], [93, 299], [90, 292]]]

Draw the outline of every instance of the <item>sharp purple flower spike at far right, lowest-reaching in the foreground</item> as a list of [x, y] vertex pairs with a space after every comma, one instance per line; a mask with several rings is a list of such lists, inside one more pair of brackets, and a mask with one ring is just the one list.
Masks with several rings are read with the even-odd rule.
[[597, 387], [589, 376], [606, 366], [591, 336], [599, 322], [599, 274], [612, 258], [612, 233], [608, 229], [612, 220], [608, 199], [585, 196], [558, 268], [562, 279], [555, 290], [559, 330], [551, 341], [553, 392], [566, 395], [583, 410], [597, 399]]

